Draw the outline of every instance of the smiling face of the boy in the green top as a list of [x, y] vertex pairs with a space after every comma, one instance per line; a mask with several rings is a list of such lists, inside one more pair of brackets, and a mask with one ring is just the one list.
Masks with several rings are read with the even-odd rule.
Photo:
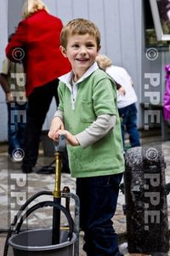
[[71, 62], [75, 82], [86, 73], [88, 67], [92, 66], [96, 55], [99, 53], [96, 39], [89, 34], [70, 36], [66, 49], [62, 46], [60, 49], [63, 55], [68, 57]]

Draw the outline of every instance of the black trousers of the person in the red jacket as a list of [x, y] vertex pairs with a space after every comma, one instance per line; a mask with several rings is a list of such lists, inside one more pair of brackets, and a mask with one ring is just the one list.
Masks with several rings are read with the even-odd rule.
[[23, 167], [33, 167], [36, 165], [42, 125], [46, 114], [54, 96], [56, 101], [59, 102], [57, 93], [58, 84], [59, 80], [55, 79], [48, 84], [37, 87], [33, 90], [31, 96], [28, 97]]

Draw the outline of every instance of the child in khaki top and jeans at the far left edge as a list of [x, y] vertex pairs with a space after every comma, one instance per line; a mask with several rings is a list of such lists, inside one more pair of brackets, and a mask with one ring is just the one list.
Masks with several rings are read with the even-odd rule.
[[[8, 38], [10, 42], [14, 34]], [[3, 61], [0, 83], [6, 94], [8, 108], [8, 156], [20, 162], [23, 157], [26, 128], [26, 76], [22, 63], [6, 58]]]

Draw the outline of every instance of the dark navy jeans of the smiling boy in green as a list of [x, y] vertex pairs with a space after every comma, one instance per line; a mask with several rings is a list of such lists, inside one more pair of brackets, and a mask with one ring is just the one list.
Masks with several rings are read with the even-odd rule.
[[88, 256], [116, 256], [119, 253], [111, 218], [116, 212], [122, 173], [77, 178], [80, 198], [80, 227], [84, 231], [83, 250]]

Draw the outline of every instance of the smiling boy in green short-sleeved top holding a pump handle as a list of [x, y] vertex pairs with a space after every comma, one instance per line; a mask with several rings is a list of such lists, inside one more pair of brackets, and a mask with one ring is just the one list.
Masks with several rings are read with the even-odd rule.
[[[77, 177], [80, 224], [88, 256], [119, 256], [111, 218], [124, 171], [116, 85], [95, 62], [100, 34], [93, 22], [71, 20], [60, 36], [72, 71], [60, 77], [59, 108], [48, 136], [65, 134], [71, 176]], [[65, 130], [64, 130], [65, 129]]]

